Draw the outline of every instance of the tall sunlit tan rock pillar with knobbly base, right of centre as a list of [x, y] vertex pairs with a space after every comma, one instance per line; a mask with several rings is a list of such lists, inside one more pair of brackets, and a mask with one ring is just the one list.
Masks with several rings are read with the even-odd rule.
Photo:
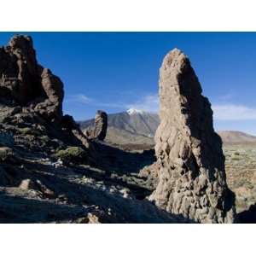
[[160, 126], [155, 134], [159, 183], [149, 199], [201, 223], [232, 223], [235, 195], [227, 187], [222, 142], [189, 59], [179, 49], [160, 67]]

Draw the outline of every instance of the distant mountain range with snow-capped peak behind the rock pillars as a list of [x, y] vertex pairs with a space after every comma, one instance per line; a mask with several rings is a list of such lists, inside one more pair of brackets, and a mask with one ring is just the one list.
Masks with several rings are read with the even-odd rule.
[[[94, 119], [79, 122], [82, 130], [92, 127]], [[157, 113], [130, 108], [108, 114], [106, 141], [116, 144], [154, 144], [154, 132], [160, 119]], [[241, 131], [218, 131], [224, 143], [256, 143], [256, 137]]]

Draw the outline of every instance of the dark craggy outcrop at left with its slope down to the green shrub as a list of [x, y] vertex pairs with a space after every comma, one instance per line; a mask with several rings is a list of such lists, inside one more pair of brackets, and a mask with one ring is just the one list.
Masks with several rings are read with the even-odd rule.
[[31, 37], [17, 35], [0, 48], [0, 130], [9, 131], [28, 148], [39, 149], [42, 137], [49, 151], [57, 144], [89, 148], [74, 120], [63, 117], [63, 97], [61, 79], [38, 64]]

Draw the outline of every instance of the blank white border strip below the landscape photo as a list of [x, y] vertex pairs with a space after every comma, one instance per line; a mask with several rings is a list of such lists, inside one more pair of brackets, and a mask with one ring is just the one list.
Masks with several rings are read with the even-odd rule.
[[253, 255], [255, 224], [9, 224], [2, 255]]

